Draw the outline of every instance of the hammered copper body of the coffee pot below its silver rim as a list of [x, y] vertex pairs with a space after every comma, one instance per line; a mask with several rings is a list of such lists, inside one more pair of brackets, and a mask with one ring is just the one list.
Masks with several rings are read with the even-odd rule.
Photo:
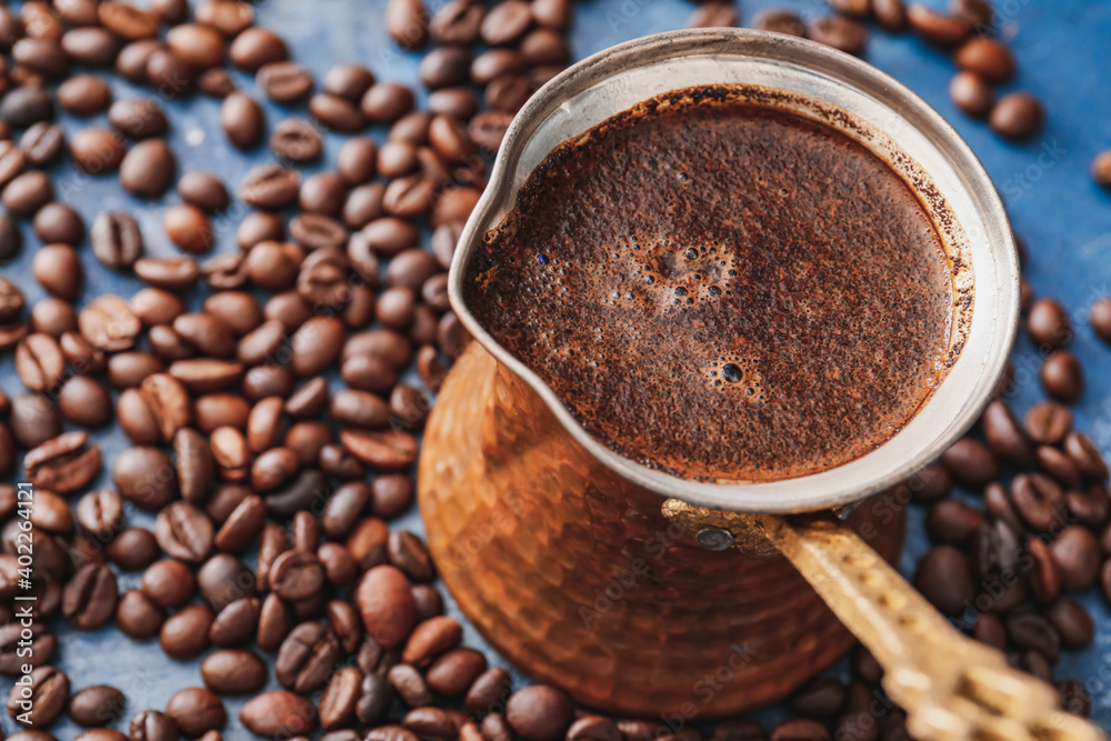
[[[613, 475], [476, 342], [441, 390], [421, 513], [448, 589], [507, 659], [607, 710], [728, 715], [778, 700], [854, 640], [773, 551], [709, 551]], [[851, 527], [879, 522], [857, 509]], [[902, 518], [871, 544], [894, 559]]]

